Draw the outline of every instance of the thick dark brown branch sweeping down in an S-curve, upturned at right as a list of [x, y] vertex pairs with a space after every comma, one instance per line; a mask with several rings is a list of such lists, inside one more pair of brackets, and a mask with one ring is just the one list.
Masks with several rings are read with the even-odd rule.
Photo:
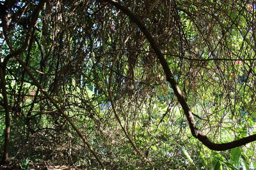
[[156, 53], [157, 58], [159, 59], [159, 62], [161, 63], [161, 66], [163, 67], [164, 73], [166, 75], [166, 80], [172, 86], [173, 92], [174, 92], [175, 96], [177, 97], [180, 105], [182, 106], [182, 109], [184, 110], [184, 113], [185, 113], [186, 118], [189, 123], [189, 128], [190, 128], [191, 134], [195, 138], [197, 138], [199, 141], [201, 141], [205, 146], [207, 146], [211, 150], [219, 150], [219, 151], [236, 148], [237, 146], [242, 146], [242, 145], [245, 145], [246, 143], [256, 141], [256, 134], [253, 134], [251, 136], [247, 136], [246, 138], [238, 139], [238, 140], [235, 140], [235, 141], [232, 141], [229, 143], [219, 144], [219, 143], [213, 143], [209, 138], [207, 138], [207, 136], [205, 136], [202, 132], [200, 132], [196, 128], [196, 122], [194, 120], [193, 113], [191, 112], [188, 104], [186, 103], [186, 100], [184, 99], [182, 92], [180, 91], [180, 89], [177, 85], [177, 82], [173, 78], [173, 74], [172, 74], [172, 71], [170, 70], [170, 67], [168, 66], [168, 62], [164, 58], [163, 53], [161, 52], [159, 46], [157, 45], [157, 42], [152, 37], [150, 32], [148, 32], [148, 30], [146, 29], [145, 24], [143, 24], [143, 22], [136, 15], [134, 15], [128, 8], [125, 8], [124, 6], [122, 6], [122, 4], [117, 3], [116, 1], [112, 1], [112, 0], [104, 0], [104, 1], [108, 2], [109, 4], [112, 4], [113, 6], [115, 6], [119, 10], [121, 10], [123, 13], [125, 13], [131, 19], [132, 22], [134, 22], [135, 24], [138, 25], [138, 27], [140, 27], [140, 30], [143, 32], [145, 37], [148, 39], [148, 42], [154, 49], [154, 52]]

